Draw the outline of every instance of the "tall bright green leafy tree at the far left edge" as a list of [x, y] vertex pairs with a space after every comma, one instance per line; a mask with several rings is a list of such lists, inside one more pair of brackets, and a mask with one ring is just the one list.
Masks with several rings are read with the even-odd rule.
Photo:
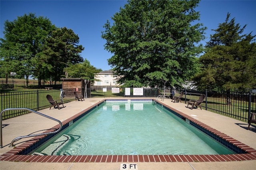
[[37, 62], [33, 61], [42, 50], [46, 37], [54, 29], [55, 26], [50, 20], [31, 13], [14, 21], [5, 21], [4, 39], [0, 39], [0, 55], [1, 61], [10, 65], [6, 73], [14, 71], [20, 77], [25, 76], [27, 86], [29, 76], [36, 76], [39, 80], [40, 75], [34, 69], [39, 67], [36, 66]]

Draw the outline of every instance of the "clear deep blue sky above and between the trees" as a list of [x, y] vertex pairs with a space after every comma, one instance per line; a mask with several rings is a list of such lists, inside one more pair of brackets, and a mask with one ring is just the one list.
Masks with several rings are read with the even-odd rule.
[[[13, 21], [18, 16], [34, 13], [48, 18], [57, 27], [67, 27], [78, 34], [80, 45], [84, 47], [81, 56], [96, 68], [111, 69], [107, 59], [112, 55], [104, 50], [106, 41], [101, 38], [103, 25], [124, 7], [126, 0], [0, 0], [0, 37], [4, 34], [4, 21]], [[227, 13], [242, 26], [244, 33], [256, 35], [256, 0], [202, 0], [196, 11], [200, 12], [200, 22], [206, 30], [209, 41], [219, 23], [223, 23]]]

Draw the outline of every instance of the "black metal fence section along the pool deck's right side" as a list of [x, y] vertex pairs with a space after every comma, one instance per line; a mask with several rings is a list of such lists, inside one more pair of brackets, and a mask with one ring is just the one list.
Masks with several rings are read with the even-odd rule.
[[250, 92], [226, 92], [226, 91], [197, 91], [185, 89], [185, 103], [190, 99], [196, 100], [201, 94], [206, 98], [201, 104], [202, 108], [247, 122], [251, 112], [256, 112], [256, 93]]

